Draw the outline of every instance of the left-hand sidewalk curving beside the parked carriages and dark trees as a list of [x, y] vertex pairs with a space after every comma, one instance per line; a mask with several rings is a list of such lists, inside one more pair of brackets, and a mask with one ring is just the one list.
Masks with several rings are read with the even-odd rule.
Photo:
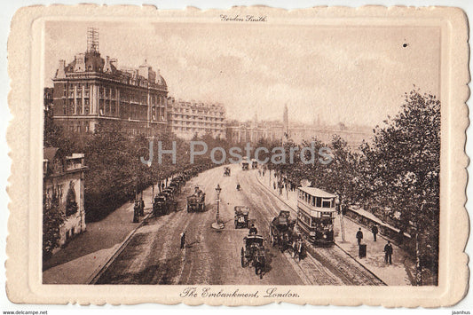
[[[143, 191], [143, 200], [146, 217], [153, 210], [152, 187]], [[43, 263], [43, 284], [87, 284], [143, 222], [144, 217], [140, 217], [140, 223], [133, 223], [133, 207], [133, 203], [125, 203], [99, 222], [88, 223], [85, 232]]]

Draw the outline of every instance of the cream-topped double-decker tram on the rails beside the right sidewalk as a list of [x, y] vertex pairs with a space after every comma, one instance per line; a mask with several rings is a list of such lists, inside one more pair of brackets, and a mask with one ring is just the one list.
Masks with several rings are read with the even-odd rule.
[[297, 191], [297, 227], [312, 243], [334, 243], [335, 194], [314, 187]]

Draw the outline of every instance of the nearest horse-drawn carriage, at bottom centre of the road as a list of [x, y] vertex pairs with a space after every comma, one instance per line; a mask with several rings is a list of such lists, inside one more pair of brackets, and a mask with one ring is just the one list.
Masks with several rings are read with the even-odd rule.
[[241, 248], [241, 267], [247, 265], [255, 267], [256, 275], [263, 279], [266, 269], [266, 253], [264, 252], [264, 238], [261, 235], [248, 235], [243, 239]]

